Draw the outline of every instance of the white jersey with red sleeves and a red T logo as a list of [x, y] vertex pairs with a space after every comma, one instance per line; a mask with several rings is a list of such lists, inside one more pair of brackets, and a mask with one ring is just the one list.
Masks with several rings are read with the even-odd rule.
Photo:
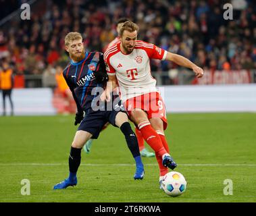
[[149, 60], [164, 60], [167, 51], [144, 41], [136, 41], [132, 53], [126, 55], [120, 50], [120, 44], [109, 47], [104, 53], [104, 60], [107, 74], [116, 75], [122, 101], [156, 92], [156, 80], [151, 76]]

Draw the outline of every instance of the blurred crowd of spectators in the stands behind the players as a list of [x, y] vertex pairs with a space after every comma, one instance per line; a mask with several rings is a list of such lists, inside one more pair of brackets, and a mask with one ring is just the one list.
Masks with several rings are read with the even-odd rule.
[[[1, 18], [21, 3], [2, 0]], [[54, 74], [56, 65], [69, 61], [63, 49], [68, 32], [82, 33], [86, 51], [104, 51], [117, 36], [117, 20], [127, 17], [140, 27], [140, 40], [204, 69], [255, 69], [256, 2], [230, 3], [233, 20], [224, 20], [221, 0], [39, 0], [31, 6], [31, 20], [11, 19], [0, 26], [0, 59], [9, 61], [16, 74]], [[176, 67], [153, 61], [151, 70]]]

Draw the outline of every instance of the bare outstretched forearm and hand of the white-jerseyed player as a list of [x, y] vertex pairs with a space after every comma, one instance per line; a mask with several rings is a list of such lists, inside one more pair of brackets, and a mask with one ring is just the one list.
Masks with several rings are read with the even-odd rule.
[[177, 65], [192, 69], [193, 72], [195, 72], [197, 78], [201, 78], [203, 76], [203, 69], [195, 65], [195, 63], [183, 57], [182, 55], [168, 52], [165, 60], [174, 61], [174, 63], [176, 63]]

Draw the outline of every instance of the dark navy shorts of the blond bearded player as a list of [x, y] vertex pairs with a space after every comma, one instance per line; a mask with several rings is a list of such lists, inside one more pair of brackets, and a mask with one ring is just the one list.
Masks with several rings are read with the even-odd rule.
[[[93, 134], [92, 138], [97, 139], [99, 137], [99, 133], [101, 132], [103, 126], [107, 122], [111, 125], [116, 126], [116, 115], [118, 115], [120, 111], [94, 111], [92, 113], [88, 113], [85, 115], [84, 119], [82, 119], [78, 130], [83, 130]], [[123, 112], [123, 111], [121, 111]]]

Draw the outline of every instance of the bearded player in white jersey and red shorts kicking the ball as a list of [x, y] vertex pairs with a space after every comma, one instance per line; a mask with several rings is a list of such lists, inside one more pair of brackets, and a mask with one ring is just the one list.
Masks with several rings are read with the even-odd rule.
[[165, 106], [155, 87], [156, 80], [151, 76], [149, 60], [174, 61], [178, 65], [192, 69], [197, 78], [203, 76], [203, 70], [181, 55], [138, 41], [138, 26], [133, 22], [125, 22], [119, 34], [120, 43], [109, 47], [104, 54], [109, 82], [101, 95], [101, 100], [109, 101], [110, 92], [119, 86], [120, 98], [130, 119], [155, 151], [161, 184], [163, 175], [168, 173], [168, 167], [174, 169], [177, 165], [169, 154], [168, 142], [165, 140], [164, 130], [168, 123]]

